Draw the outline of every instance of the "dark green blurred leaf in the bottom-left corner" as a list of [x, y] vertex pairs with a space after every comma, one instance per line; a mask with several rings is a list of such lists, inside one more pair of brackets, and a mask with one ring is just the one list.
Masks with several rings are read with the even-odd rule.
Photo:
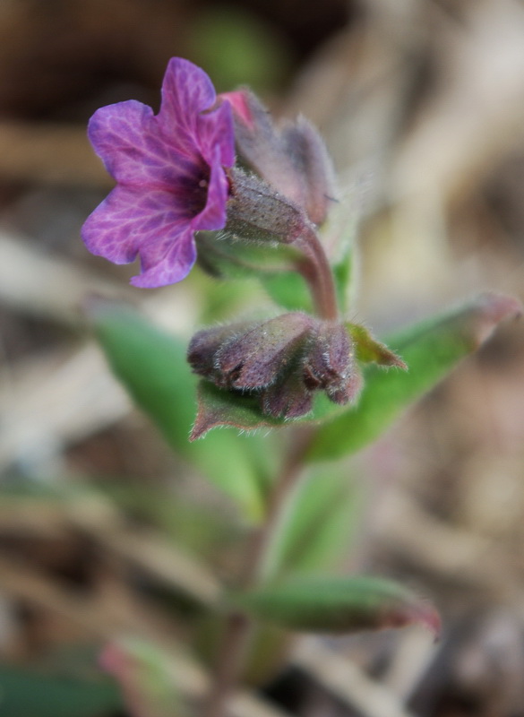
[[107, 678], [62, 678], [6, 666], [0, 667], [0, 695], [6, 717], [99, 717], [123, 706]]

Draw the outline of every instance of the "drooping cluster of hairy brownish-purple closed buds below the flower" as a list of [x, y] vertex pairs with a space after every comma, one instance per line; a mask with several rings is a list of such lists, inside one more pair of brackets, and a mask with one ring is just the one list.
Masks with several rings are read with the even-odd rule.
[[360, 388], [346, 327], [301, 312], [203, 330], [187, 358], [194, 373], [219, 388], [257, 396], [262, 413], [279, 419], [308, 413], [315, 391], [344, 404]]

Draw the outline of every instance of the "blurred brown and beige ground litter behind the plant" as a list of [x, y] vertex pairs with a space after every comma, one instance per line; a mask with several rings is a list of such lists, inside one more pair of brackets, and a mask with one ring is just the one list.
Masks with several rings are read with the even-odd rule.
[[[130, 289], [132, 267], [82, 246], [82, 221], [111, 186], [86, 123], [119, 100], [158, 108], [170, 56], [320, 128], [359, 224], [351, 318], [382, 333], [478, 290], [524, 295], [520, 0], [3, 0], [5, 717], [156, 717], [133, 693], [149, 669], [158, 678], [150, 652], [111, 641], [192, 638], [193, 599], [215, 588], [193, 557], [228, 574], [245, 531], [133, 410], [82, 319], [97, 291], [188, 337], [251, 296], [199, 272]], [[345, 569], [430, 595], [440, 643], [417, 630], [302, 640], [253, 679], [266, 712], [248, 700], [238, 717], [524, 715], [523, 358], [522, 324], [503, 326], [348, 465], [360, 508]], [[124, 698], [97, 667], [110, 643]], [[183, 691], [202, 692], [192, 662], [174, 651], [168, 664]]]

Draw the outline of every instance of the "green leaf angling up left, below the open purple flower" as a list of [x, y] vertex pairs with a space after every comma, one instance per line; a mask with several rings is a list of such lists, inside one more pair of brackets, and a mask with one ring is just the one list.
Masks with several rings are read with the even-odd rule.
[[97, 301], [90, 315], [114, 373], [169, 445], [242, 505], [248, 517], [260, 519], [274, 452], [261, 451], [262, 436], [226, 430], [189, 442], [197, 382], [185, 360], [185, 343], [128, 307]]

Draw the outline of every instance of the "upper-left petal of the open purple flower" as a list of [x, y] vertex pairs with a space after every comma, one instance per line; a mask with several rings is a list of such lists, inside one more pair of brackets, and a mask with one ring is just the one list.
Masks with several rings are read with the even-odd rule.
[[134, 99], [97, 110], [88, 134], [107, 171], [121, 184], [176, 190], [202, 172], [197, 149], [192, 155], [180, 151], [160, 132], [151, 108]]

